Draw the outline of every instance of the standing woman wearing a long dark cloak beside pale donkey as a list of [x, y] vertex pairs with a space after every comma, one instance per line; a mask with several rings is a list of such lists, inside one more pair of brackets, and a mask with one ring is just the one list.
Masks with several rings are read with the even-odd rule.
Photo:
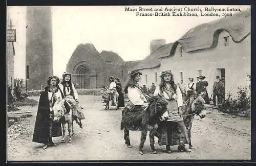
[[[48, 146], [57, 146], [53, 143], [52, 137], [62, 136], [61, 123], [54, 120], [52, 110], [57, 99], [59, 97], [64, 98], [58, 83], [58, 77], [50, 76], [47, 80], [47, 86], [40, 92], [32, 141], [44, 144], [42, 149], [47, 149]], [[65, 102], [64, 105], [66, 110], [70, 110], [68, 103]]]

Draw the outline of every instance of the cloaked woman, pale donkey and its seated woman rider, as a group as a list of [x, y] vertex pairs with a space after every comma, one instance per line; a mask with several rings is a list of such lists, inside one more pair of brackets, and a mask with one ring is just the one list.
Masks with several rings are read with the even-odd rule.
[[63, 73], [61, 82], [58, 77], [50, 76], [47, 86], [40, 92], [32, 141], [44, 144], [42, 149], [57, 146], [52, 137], [62, 136], [61, 142], [65, 142], [65, 124], [68, 123], [71, 142], [73, 121], [82, 128], [81, 120], [85, 118], [82, 108], [78, 102], [78, 93], [71, 82], [71, 74]]

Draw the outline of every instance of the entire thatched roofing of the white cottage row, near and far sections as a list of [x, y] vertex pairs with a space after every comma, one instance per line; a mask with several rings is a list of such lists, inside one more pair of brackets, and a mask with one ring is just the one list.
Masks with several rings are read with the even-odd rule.
[[218, 44], [219, 34], [222, 31], [227, 31], [234, 42], [245, 39], [250, 34], [250, 9], [190, 29], [178, 41], [160, 46], [151, 55], [141, 60], [134, 69], [160, 66], [159, 58], [174, 55], [179, 43], [185, 52], [214, 48]]

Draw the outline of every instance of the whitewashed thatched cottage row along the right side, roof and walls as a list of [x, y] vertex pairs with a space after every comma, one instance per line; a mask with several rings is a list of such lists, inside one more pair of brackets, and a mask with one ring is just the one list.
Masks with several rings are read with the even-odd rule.
[[190, 29], [173, 43], [163, 43], [134, 69], [143, 73], [140, 85], [158, 84], [162, 70], [170, 69], [175, 81], [187, 85], [188, 78], [204, 75], [209, 96], [216, 76], [225, 77], [226, 94], [236, 95], [250, 75], [250, 10]]

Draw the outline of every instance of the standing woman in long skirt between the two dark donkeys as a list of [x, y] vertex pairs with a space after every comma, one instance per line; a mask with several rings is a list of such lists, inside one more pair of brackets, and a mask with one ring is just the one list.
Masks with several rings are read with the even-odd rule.
[[166, 146], [166, 153], [172, 153], [170, 146], [179, 145], [179, 151], [190, 152], [185, 148], [188, 144], [186, 126], [182, 117], [182, 94], [179, 86], [174, 83], [174, 77], [170, 70], [163, 71], [160, 75], [161, 82], [156, 87], [154, 96], [162, 94], [167, 100], [167, 111], [161, 116], [162, 123], [159, 123], [159, 145]]

